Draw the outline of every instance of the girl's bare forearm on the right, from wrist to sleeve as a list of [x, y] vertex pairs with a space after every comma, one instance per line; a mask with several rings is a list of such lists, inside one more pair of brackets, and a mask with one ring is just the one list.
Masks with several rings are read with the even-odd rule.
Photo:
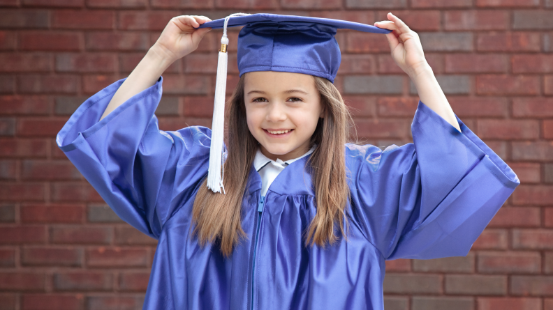
[[438, 84], [432, 68], [426, 64], [417, 72], [413, 72], [410, 77], [417, 88], [420, 101], [461, 132], [459, 122], [457, 122], [453, 109], [451, 109], [448, 99], [445, 98], [445, 94], [440, 84]]

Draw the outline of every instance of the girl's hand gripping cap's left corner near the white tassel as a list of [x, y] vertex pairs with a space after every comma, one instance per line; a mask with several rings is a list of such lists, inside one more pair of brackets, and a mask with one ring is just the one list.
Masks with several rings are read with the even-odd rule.
[[171, 62], [180, 59], [198, 48], [200, 40], [211, 28], [196, 29], [200, 24], [211, 22], [209, 18], [198, 15], [180, 15], [173, 17], [152, 47]]

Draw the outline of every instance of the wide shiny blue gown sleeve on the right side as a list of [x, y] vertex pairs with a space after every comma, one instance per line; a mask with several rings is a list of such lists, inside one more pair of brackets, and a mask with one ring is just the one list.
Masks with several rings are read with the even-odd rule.
[[455, 115], [422, 102], [413, 143], [346, 145], [355, 223], [386, 260], [466, 256], [515, 187], [515, 172]]

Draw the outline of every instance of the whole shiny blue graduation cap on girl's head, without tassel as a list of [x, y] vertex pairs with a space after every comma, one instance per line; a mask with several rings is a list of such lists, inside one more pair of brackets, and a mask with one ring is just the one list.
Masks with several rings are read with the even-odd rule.
[[[222, 28], [224, 20], [206, 22], [198, 28]], [[230, 17], [227, 26], [244, 26], [237, 42], [240, 76], [252, 71], [280, 71], [325, 77], [330, 82], [334, 82], [341, 62], [334, 38], [337, 29], [390, 32], [345, 20], [264, 13]]]

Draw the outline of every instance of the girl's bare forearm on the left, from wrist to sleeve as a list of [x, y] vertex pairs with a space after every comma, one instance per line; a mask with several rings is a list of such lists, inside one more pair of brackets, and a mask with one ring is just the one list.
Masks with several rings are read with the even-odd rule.
[[156, 81], [171, 63], [173, 63], [173, 60], [162, 49], [156, 45], [150, 48], [133, 72], [119, 86], [108, 107], [105, 108], [100, 121], [133, 95], [156, 84]]

